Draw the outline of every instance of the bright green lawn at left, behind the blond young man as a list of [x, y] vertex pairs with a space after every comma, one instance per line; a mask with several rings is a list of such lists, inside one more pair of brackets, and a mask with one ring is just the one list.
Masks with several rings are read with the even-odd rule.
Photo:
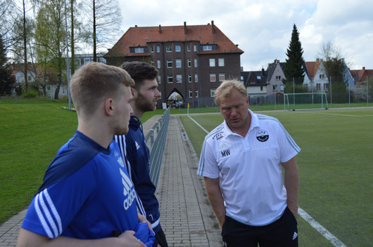
[[[61, 100], [0, 100], [0, 224], [30, 204], [46, 167], [74, 135], [76, 112]], [[146, 112], [146, 122], [164, 110]]]

